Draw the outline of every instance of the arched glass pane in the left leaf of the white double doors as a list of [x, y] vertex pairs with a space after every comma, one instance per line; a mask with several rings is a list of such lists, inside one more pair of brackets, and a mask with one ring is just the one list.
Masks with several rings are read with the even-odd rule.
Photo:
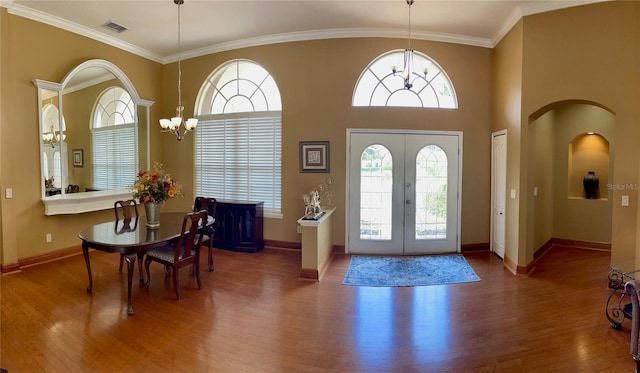
[[360, 156], [360, 239], [391, 239], [393, 160], [382, 145], [366, 148]]

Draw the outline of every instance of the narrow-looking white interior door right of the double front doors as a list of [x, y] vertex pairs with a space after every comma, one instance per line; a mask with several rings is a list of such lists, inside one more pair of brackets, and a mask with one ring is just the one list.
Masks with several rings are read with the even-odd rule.
[[493, 133], [491, 144], [491, 250], [504, 259], [507, 200], [506, 131]]

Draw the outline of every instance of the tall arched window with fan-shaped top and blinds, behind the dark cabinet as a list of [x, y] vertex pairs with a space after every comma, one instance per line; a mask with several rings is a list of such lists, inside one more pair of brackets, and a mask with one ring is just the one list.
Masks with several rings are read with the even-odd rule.
[[195, 195], [264, 201], [281, 216], [282, 104], [275, 80], [249, 60], [229, 61], [196, 100]]

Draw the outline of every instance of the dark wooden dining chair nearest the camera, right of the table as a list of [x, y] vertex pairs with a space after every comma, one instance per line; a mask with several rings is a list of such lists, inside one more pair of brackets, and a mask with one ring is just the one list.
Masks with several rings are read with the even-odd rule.
[[[198, 282], [198, 289], [202, 289], [200, 282], [200, 246], [202, 245], [203, 234], [198, 233], [199, 227], [207, 224], [207, 210], [188, 213], [182, 221], [182, 231], [178, 242], [158, 249], [147, 251], [144, 267], [147, 271], [147, 288], [151, 284], [151, 273], [149, 265], [151, 262], [163, 264], [166, 268], [171, 268], [168, 273], [173, 274], [173, 284], [176, 288], [176, 297], [180, 299], [180, 273], [181, 267], [192, 265], [194, 275]], [[187, 231], [188, 230], [188, 231]]]

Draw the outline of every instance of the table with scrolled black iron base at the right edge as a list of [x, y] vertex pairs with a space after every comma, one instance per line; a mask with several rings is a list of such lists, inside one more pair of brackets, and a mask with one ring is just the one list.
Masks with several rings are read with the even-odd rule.
[[629, 280], [640, 279], [640, 265], [636, 261], [612, 263], [609, 266], [609, 288], [605, 312], [607, 320], [616, 330], [620, 330], [625, 319], [631, 319], [631, 302], [626, 299], [624, 284]]

